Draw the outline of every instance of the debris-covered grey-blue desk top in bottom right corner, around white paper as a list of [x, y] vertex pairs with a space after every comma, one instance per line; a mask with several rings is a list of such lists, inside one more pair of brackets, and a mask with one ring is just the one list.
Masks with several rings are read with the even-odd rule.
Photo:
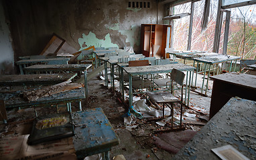
[[211, 149], [232, 145], [256, 159], [256, 103], [232, 98], [173, 159], [218, 159]]

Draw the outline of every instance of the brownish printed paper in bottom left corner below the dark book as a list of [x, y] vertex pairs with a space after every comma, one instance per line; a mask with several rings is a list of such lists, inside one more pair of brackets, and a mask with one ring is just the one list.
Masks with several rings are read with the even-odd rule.
[[1, 138], [1, 159], [76, 159], [71, 137], [49, 143], [27, 145], [28, 136], [17, 135]]

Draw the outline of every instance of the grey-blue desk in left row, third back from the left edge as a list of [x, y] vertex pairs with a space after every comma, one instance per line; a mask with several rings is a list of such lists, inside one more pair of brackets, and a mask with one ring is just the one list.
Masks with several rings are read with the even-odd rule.
[[50, 59], [22, 59], [17, 61], [17, 65], [19, 65], [19, 70], [21, 75], [23, 75], [23, 68], [27, 67], [27, 65], [35, 65], [35, 64], [48, 64], [51, 65], [57, 64], [68, 64], [69, 58], [50, 58]]

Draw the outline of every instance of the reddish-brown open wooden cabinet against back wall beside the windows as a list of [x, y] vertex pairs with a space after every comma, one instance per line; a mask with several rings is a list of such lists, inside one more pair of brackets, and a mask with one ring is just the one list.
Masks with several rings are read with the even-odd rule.
[[141, 53], [145, 57], [165, 57], [171, 29], [171, 25], [141, 24]]

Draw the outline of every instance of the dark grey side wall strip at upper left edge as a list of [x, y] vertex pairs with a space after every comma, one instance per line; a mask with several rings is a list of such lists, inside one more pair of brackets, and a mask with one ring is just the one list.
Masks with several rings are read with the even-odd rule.
[[10, 31], [5, 19], [3, 3], [0, 0], [0, 75], [13, 73], [14, 53]]

